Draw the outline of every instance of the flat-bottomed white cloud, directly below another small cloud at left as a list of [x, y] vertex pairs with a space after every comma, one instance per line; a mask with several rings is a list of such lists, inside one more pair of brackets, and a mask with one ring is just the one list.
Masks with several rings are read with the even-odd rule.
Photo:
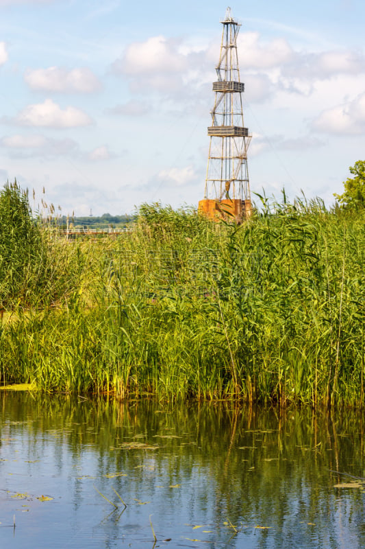
[[90, 117], [82, 110], [71, 106], [62, 110], [51, 99], [25, 107], [15, 119], [10, 121], [20, 126], [48, 128], [75, 128], [92, 124]]

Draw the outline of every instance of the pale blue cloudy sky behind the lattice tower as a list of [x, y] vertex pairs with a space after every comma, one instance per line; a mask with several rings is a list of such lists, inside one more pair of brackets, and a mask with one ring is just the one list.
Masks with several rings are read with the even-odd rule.
[[[0, 0], [0, 183], [62, 213], [203, 198], [226, 3]], [[342, 191], [365, 159], [365, 4], [231, 3], [251, 190]], [[33, 199], [32, 199], [33, 200]]]

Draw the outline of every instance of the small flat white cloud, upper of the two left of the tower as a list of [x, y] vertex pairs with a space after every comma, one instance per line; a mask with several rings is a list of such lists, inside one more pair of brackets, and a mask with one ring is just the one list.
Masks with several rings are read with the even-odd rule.
[[34, 90], [63, 93], [92, 93], [101, 89], [97, 77], [87, 68], [67, 71], [62, 67], [28, 70], [25, 82]]

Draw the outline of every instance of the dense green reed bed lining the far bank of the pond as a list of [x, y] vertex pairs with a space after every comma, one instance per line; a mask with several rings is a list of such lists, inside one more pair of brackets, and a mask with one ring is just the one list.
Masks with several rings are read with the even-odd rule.
[[114, 237], [37, 226], [21, 283], [1, 271], [1, 383], [362, 405], [364, 211], [258, 199], [240, 226], [160, 205]]

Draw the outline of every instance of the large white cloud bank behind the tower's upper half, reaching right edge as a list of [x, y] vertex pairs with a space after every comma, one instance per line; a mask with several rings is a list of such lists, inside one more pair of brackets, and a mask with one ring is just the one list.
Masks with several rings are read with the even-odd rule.
[[[208, 43], [199, 44], [199, 49], [189, 44], [188, 39], [173, 40], [165, 36], [131, 43], [114, 62], [112, 71], [129, 80], [135, 95], [158, 93], [172, 104], [183, 103], [186, 109], [192, 104], [206, 104], [205, 84], [216, 78], [214, 64], [218, 61], [218, 49]], [[310, 97], [319, 82], [334, 80], [340, 75], [365, 74], [362, 51], [308, 53], [295, 49], [284, 38], [264, 40], [258, 32], [239, 35], [238, 58], [241, 79], [246, 84], [244, 97], [249, 102], [264, 102], [281, 92], [286, 97]], [[118, 110], [121, 114], [137, 115], [139, 108], [130, 102]]]

